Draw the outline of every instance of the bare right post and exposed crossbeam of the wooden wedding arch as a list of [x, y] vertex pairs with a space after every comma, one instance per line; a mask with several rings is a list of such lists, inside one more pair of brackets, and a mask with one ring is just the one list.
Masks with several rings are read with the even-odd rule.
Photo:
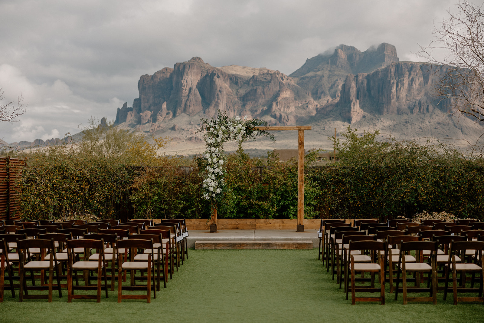
[[298, 131], [298, 224], [296, 226], [296, 231], [304, 232], [304, 130], [311, 130], [311, 126], [272, 126], [254, 127], [254, 129], [266, 131]]

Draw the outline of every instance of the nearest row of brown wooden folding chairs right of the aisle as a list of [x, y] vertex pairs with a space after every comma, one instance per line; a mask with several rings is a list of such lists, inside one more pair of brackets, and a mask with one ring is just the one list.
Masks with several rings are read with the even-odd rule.
[[[389, 233], [390, 231], [386, 232]], [[437, 276], [437, 266], [439, 264], [439, 257], [444, 257], [445, 263], [445, 286], [444, 290], [444, 300], [446, 299], [447, 292], [450, 290], [448, 284], [450, 281], [450, 274], [452, 273], [453, 287], [452, 291], [454, 293], [454, 304], [458, 301], [480, 301], [484, 302], [483, 298], [483, 285], [484, 285], [484, 271], [483, 271], [483, 257], [482, 249], [484, 249], [483, 241], [475, 241], [468, 236], [452, 236], [452, 235], [441, 235], [432, 236], [432, 240], [435, 241], [422, 241], [422, 237], [418, 236], [391, 236], [387, 235], [386, 241], [377, 241], [378, 235], [354, 235], [356, 231], [347, 231], [347, 235], [342, 236], [341, 246], [342, 248], [337, 248], [337, 250], [342, 250], [342, 260], [344, 261], [344, 273], [345, 273], [345, 292], [348, 299], [348, 292], [351, 289], [352, 294], [352, 304], [357, 301], [379, 301], [384, 304], [384, 285], [386, 277], [386, 264], [385, 261], [389, 260], [389, 269], [391, 269], [392, 259], [394, 258], [394, 253], [392, 248], [389, 248], [389, 244], [394, 244], [398, 250], [398, 263], [397, 277], [396, 277], [396, 288], [395, 288], [395, 300], [397, 300], [398, 292], [403, 292], [403, 302], [407, 304], [408, 301], [431, 301], [436, 304], [436, 294], [438, 290], [438, 276]], [[381, 232], [382, 235], [385, 232]], [[481, 235], [478, 235], [481, 239]], [[441, 241], [439, 241], [441, 239]], [[468, 240], [469, 239], [469, 240]], [[379, 239], [378, 239], [379, 240]], [[450, 240], [450, 241], [449, 241]], [[450, 244], [449, 255], [439, 255], [438, 250], [440, 244]], [[346, 245], [346, 247], [345, 247]], [[370, 252], [369, 254], [361, 253], [361, 250], [366, 250]], [[384, 254], [382, 251], [384, 250]], [[415, 252], [415, 257], [409, 254], [409, 251]], [[469, 253], [470, 250], [470, 253]], [[472, 254], [472, 255], [471, 255]], [[338, 255], [339, 256], [339, 255]], [[461, 256], [459, 258], [459, 256]], [[471, 259], [472, 261], [465, 261], [465, 258]], [[339, 259], [339, 258], [338, 258]], [[424, 260], [428, 261], [425, 262]], [[390, 288], [393, 288], [393, 273], [390, 271]], [[466, 282], [466, 271], [473, 273], [471, 278], [471, 288], [465, 287]], [[372, 277], [370, 278], [357, 278], [355, 277], [355, 272], [370, 272]], [[415, 287], [408, 287], [408, 277], [407, 272], [418, 273], [414, 276], [413, 281], [415, 282]], [[420, 274], [426, 272], [427, 277], [427, 287], [422, 288], [420, 286], [421, 277]], [[460, 273], [460, 284], [457, 284], [457, 273]], [[473, 288], [475, 282], [475, 274], [479, 273], [479, 288]], [[375, 288], [374, 276], [378, 274], [380, 287]], [[400, 274], [402, 274], [402, 288], [399, 288]], [[351, 278], [350, 278], [351, 277]], [[349, 283], [351, 279], [351, 284]], [[340, 288], [343, 279], [340, 279]], [[370, 281], [370, 286], [357, 287], [355, 281], [366, 280]], [[430, 292], [429, 297], [417, 297], [409, 298], [407, 297], [407, 292]], [[356, 297], [356, 292], [380, 292], [380, 297]], [[457, 297], [458, 292], [478, 292], [478, 297]]]

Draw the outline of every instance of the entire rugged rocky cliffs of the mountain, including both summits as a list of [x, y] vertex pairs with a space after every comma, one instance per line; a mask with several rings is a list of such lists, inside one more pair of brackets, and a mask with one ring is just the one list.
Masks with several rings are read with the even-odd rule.
[[[266, 68], [218, 68], [194, 57], [140, 77], [139, 97], [132, 107], [118, 108], [115, 123], [159, 133], [180, 132], [183, 123], [217, 110], [272, 125], [305, 124], [330, 111], [349, 123], [365, 115], [431, 113], [438, 103], [431, 95], [435, 71], [421, 65], [399, 62], [395, 46], [386, 43], [364, 52], [340, 45], [306, 60], [290, 76]], [[173, 118], [182, 121], [174, 124]]]

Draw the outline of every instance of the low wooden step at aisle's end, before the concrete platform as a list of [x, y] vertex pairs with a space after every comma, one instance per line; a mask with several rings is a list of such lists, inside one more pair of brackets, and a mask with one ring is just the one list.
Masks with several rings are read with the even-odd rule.
[[200, 240], [195, 249], [312, 249], [311, 240]]

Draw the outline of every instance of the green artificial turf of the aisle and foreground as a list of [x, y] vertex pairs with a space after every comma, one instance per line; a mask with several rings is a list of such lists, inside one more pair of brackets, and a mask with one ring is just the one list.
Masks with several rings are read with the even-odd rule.
[[[5, 291], [0, 322], [484, 322], [484, 305], [402, 305], [386, 293], [386, 305], [351, 305], [318, 261], [317, 250], [190, 250], [190, 258], [151, 304], [117, 303], [117, 291], [101, 303], [73, 300], [67, 292], [46, 300], [13, 299]], [[388, 288], [386, 289], [388, 291]]]

